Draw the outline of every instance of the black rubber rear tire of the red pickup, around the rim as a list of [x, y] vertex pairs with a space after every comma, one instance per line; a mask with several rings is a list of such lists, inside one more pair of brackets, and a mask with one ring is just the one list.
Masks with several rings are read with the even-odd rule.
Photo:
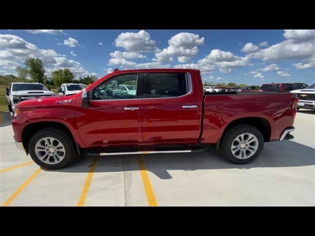
[[[258, 148], [256, 149], [256, 152], [251, 157], [246, 158], [246, 159], [240, 159], [233, 155], [231, 147], [234, 140], [239, 135], [246, 134], [246, 133], [252, 134], [253, 136], [256, 137], [258, 141]], [[230, 162], [235, 163], [235, 164], [247, 164], [247, 163], [252, 162], [254, 159], [256, 159], [260, 155], [263, 147], [264, 147], [264, 137], [257, 128], [248, 124], [238, 124], [236, 126], [229, 128], [224, 133], [221, 139], [221, 144], [220, 144], [219, 149], [220, 149], [221, 155], [224, 156]], [[250, 153], [250, 151], [245, 151], [245, 153]]]

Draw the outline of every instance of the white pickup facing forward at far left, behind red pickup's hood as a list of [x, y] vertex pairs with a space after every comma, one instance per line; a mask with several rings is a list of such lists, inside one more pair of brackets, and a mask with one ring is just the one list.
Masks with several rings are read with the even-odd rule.
[[15, 106], [19, 102], [47, 96], [56, 96], [56, 94], [47, 89], [43, 84], [38, 83], [14, 82], [11, 83], [5, 91], [5, 98], [8, 104], [9, 112], [14, 112]]

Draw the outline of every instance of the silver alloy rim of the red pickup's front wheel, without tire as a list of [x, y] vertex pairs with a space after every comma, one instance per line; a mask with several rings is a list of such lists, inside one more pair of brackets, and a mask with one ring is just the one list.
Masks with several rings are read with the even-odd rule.
[[38, 140], [35, 145], [35, 153], [42, 162], [55, 165], [63, 160], [65, 149], [58, 139], [46, 137]]

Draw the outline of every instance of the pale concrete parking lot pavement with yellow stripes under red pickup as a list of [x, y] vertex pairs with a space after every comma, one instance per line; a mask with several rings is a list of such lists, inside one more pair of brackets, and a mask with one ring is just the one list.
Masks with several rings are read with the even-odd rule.
[[57, 171], [39, 169], [18, 150], [10, 117], [4, 113], [2, 119], [4, 206], [315, 206], [314, 111], [301, 109], [295, 138], [265, 143], [247, 165], [231, 164], [206, 147], [196, 153], [85, 156]]

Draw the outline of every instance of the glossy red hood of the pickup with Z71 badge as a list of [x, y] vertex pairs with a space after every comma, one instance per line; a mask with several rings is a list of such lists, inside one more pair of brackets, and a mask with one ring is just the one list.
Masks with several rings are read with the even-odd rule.
[[64, 95], [64, 96], [52, 96], [52, 97], [40, 97], [30, 100], [25, 100], [16, 106], [16, 108], [26, 108], [32, 107], [36, 108], [38, 106], [57, 106], [60, 104], [74, 104], [78, 94]]

